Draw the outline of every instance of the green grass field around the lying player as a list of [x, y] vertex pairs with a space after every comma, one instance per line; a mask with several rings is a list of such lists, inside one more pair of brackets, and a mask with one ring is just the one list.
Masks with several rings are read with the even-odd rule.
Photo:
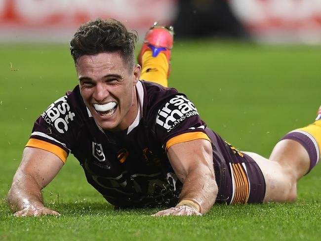
[[[269, 156], [321, 105], [321, 47], [177, 41], [170, 85], [238, 149]], [[298, 184], [294, 203], [214, 205], [202, 217], [150, 217], [113, 210], [72, 156], [43, 190], [60, 217], [15, 218], [6, 194], [33, 122], [77, 84], [68, 45], [0, 45], [0, 240], [320, 240], [321, 165]]]

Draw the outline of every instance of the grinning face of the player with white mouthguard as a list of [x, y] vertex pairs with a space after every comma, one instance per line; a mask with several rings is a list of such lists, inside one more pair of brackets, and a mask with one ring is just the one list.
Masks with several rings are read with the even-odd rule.
[[104, 130], [126, 129], [138, 111], [135, 84], [140, 66], [108, 52], [81, 56], [76, 70], [80, 94], [96, 123]]

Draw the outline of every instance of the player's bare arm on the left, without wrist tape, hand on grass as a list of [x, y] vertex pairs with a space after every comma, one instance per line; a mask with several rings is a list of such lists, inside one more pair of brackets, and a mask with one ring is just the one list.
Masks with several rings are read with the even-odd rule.
[[60, 215], [44, 207], [41, 189], [57, 175], [63, 162], [51, 152], [26, 147], [13, 177], [7, 201], [15, 216]]

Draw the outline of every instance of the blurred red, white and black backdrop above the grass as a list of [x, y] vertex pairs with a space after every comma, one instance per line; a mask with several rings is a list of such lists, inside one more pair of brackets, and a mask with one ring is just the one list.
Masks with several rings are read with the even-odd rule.
[[173, 24], [177, 38], [321, 43], [320, 0], [0, 0], [0, 41], [66, 42], [96, 17], [141, 37], [158, 20]]

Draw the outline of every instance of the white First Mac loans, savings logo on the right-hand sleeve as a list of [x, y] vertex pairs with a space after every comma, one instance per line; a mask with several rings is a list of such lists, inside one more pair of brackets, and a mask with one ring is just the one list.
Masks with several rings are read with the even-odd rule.
[[199, 115], [194, 104], [184, 95], [176, 95], [159, 110], [156, 123], [169, 132], [186, 118]]

